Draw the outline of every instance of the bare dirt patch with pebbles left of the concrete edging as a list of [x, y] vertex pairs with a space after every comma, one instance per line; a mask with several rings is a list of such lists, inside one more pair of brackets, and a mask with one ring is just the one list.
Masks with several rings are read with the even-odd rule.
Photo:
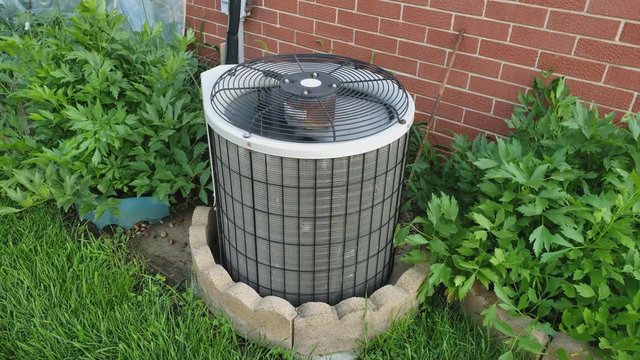
[[189, 226], [193, 209], [172, 214], [153, 225], [136, 224], [129, 242], [130, 250], [145, 260], [149, 270], [164, 275], [167, 282], [180, 288], [191, 281]]

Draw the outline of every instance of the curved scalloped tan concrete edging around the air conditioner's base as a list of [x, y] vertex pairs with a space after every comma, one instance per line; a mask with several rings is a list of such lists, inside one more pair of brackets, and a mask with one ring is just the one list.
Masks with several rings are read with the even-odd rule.
[[222, 311], [234, 329], [252, 341], [293, 348], [305, 356], [351, 351], [418, 308], [417, 290], [429, 271], [425, 265], [409, 268], [395, 284], [367, 299], [352, 297], [335, 306], [309, 302], [295, 308], [276, 296], [261, 297], [234, 282], [215, 262], [209, 248], [215, 221], [212, 208], [194, 210], [189, 228], [193, 273], [211, 311]]

